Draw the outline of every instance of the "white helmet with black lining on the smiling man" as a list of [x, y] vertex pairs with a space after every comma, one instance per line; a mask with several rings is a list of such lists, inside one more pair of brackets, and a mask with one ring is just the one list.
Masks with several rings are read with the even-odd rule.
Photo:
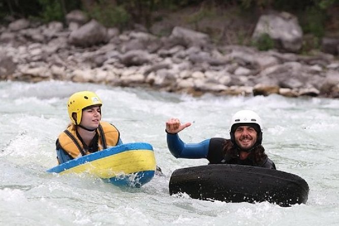
[[233, 144], [236, 145], [234, 131], [239, 126], [251, 126], [257, 133], [257, 144], [260, 145], [262, 141], [262, 123], [258, 114], [252, 110], [239, 110], [234, 114], [231, 120], [230, 136]]

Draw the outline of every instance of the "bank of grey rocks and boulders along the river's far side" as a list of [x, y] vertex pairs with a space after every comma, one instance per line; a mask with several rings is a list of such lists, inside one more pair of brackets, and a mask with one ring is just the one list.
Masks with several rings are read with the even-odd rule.
[[[300, 48], [302, 32], [276, 38], [283, 51], [263, 52], [213, 45], [208, 34], [179, 26], [158, 37], [142, 28], [106, 28], [80, 12], [70, 13], [67, 21], [68, 27], [25, 19], [0, 26], [0, 79], [105, 83], [194, 95], [339, 97], [339, 61], [334, 55], [291, 53]], [[292, 22], [287, 29], [294, 29]]]

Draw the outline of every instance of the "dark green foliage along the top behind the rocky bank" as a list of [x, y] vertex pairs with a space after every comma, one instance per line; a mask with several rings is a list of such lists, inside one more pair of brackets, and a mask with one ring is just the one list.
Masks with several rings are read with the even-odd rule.
[[[267, 9], [297, 14], [304, 33], [311, 33], [318, 39], [325, 34], [326, 25], [332, 25], [334, 30], [335, 25], [339, 24], [336, 16], [339, 0], [3, 0], [0, 1], [0, 20], [12, 16], [35, 18], [44, 22], [64, 21], [68, 12], [82, 9], [103, 25], [122, 30], [132, 23], [141, 23], [150, 28], [152, 23], [162, 20], [162, 12], [173, 12], [186, 7], [199, 7], [196, 13], [187, 18], [187, 22], [194, 24], [197, 30], [206, 21], [205, 18], [216, 17], [215, 12], [218, 12], [219, 20], [220, 16], [225, 16], [220, 13], [223, 8], [228, 12], [225, 21], [234, 17], [229, 14], [231, 8], [239, 9], [241, 13], [237, 16], [242, 18], [248, 18], [245, 12], [258, 15]], [[220, 30], [210, 27], [206, 28], [209, 33], [218, 37]], [[247, 32], [235, 35], [239, 36], [239, 43], [245, 43], [248, 39]], [[269, 46], [270, 42], [267, 37], [263, 37], [258, 45]]]

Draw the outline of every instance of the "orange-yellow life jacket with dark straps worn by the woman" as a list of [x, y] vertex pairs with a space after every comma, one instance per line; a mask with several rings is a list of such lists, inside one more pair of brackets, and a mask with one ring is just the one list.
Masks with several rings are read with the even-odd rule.
[[[76, 126], [72, 124], [58, 137], [61, 148], [73, 159], [90, 154], [82, 145], [76, 135]], [[106, 149], [108, 146], [115, 146], [120, 137], [119, 131], [110, 123], [100, 122], [97, 129], [99, 135], [98, 150]]]

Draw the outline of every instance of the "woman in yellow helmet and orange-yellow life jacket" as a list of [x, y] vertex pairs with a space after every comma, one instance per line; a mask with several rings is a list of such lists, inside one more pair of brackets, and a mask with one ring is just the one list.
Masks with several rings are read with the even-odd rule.
[[101, 122], [101, 106], [94, 92], [77, 92], [69, 98], [67, 109], [72, 123], [56, 140], [59, 164], [122, 144], [115, 126]]

